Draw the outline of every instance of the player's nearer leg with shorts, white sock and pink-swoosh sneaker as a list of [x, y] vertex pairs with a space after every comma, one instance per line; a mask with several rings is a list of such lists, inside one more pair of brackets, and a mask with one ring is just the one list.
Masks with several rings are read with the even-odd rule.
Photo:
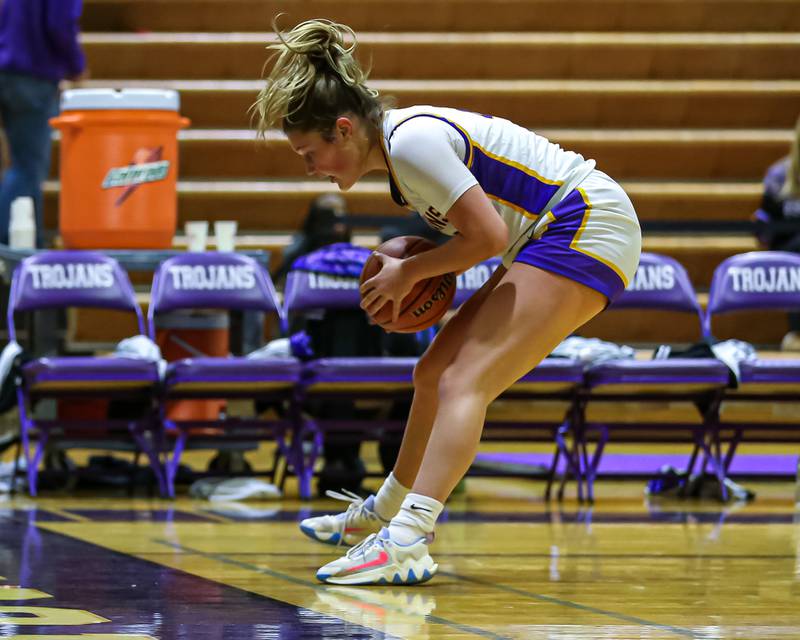
[[[413, 491], [388, 528], [322, 567], [318, 579], [408, 584], [436, 572], [428, 542], [443, 501], [475, 456], [487, 406], [620, 295], [635, 274], [640, 251], [633, 205], [599, 171], [539, 218], [511, 268], [453, 338], [453, 350], [440, 344], [440, 353], [451, 355], [445, 368], [432, 367], [424, 381], [420, 376], [418, 388], [435, 391], [420, 404], [428, 408], [420, 414], [432, 411], [435, 418], [427, 434], [417, 429], [425, 444], [421, 467], [411, 468]], [[416, 459], [399, 460], [398, 471]]]

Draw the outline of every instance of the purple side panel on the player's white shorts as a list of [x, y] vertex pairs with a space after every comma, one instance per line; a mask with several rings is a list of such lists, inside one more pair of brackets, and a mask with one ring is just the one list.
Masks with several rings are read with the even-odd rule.
[[570, 248], [580, 229], [586, 203], [576, 189], [553, 207], [555, 220], [541, 238], [527, 242], [514, 262], [522, 262], [580, 282], [613, 302], [622, 295], [625, 283], [609, 266], [585, 253]]

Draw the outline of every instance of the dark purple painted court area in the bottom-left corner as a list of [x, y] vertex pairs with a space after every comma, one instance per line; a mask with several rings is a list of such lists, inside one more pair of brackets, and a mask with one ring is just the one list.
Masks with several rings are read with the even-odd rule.
[[286, 638], [385, 637], [335, 616], [40, 528], [33, 519], [5, 519], [0, 546], [8, 551], [3, 574], [10, 584], [50, 594], [52, 606], [88, 610], [107, 619], [26, 626], [25, 632], [35, 637], [110, 637], [135, 631], [161, 640], [256, 640], [263, 637], [263, 625]]

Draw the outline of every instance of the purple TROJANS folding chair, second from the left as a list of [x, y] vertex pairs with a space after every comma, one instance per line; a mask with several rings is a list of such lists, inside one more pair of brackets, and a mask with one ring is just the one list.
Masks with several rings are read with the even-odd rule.
[[[156, 316], [185, 309], [249, 310], [282, 316], [275, 288], [267, 271], [255, 260], [236, 253], [186, 253], [165, 261], [153, 277], [147, 313], [150, 336], [155, 338]], [[175, 433], [175, 443], [166, 464], [167, 492], [175, 495], [175, 475], [189, 431], [221, 428], [223, 434], [203, 446], [221, 448], [225, 443], [254, 438], [274, 438], [278, 451], [298, 475], [303, 473], [302, 448], [296, 432], [288, 444], [287, 431], [298, 425], [294, 389], [300, 375], [295, 358], [248, 359], [245, 357], [198, 357], [171, 362], [161, 390], [160, 415], [165, 429]], [[180, 399], [240, 398], [258, 402], [285, 402], [288, 419], [264, 420], [170, 420], [165, 405]], [[300, 428], [300, 427], [298, 427]], [[298, 468], [298, 465], [300, 468]], [[273, 478], [275, 469], [273, 469]]]

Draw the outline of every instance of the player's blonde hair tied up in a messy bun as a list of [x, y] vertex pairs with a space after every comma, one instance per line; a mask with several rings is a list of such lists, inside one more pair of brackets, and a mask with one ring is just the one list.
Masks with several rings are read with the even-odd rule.
[[[336, 119], [352, 113], [376, 127], [383, 117], [378, 92], [366, 85], [367, 72], [356, 61], [355, 32], [330, 20], [301, 22], [282, 33], [272, 28], [278, 42], [264, 68], [274, 62], [266, 85], [251, 107], [258, 117], [258, 132], [280, 126], [284, 131], [319, 131], [328, 137]], [[347, 41], [350, 41], [349, 43]]]

